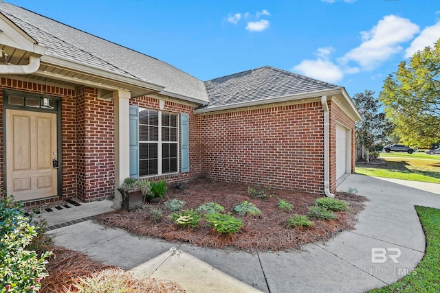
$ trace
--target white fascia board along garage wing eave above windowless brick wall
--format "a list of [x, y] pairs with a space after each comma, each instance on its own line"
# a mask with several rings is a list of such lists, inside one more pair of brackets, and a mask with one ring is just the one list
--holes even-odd
[[221, 111], [221, 110], [230, 110], [234, 108], [244, 108], [244, 107], [250, 107], [250, 106], [259, 106], [264, 104], [272, 104], [272, 103], [280, 103], [280, 102], [288, 102], [288, 101], [295, 101], [298, 99], [310, 99], [310, 98], [316, 98], [320, 97], [322, 95], [337, 95], [341, 93], [342, 88], [337, 89], [331, 89], [331, 90], [324, 90], [324, 91], [314, 91], [310, 93], [298, 93], [295, 95], [283, 95], [281, 97], [271, 97], [268, 99], [259, 99], [256, 101], [250, 101], [250, 102], [241, 102], [241, 103], [234, 103], [234, 104], [228, 104], [228, 105], [222, 105], [217, 107], [208, 107], [208, 108], [202, 108], [199, 110], [194, 110], [195, 113], [201, 114], [201, 113], [209, 113], [214, 111]]

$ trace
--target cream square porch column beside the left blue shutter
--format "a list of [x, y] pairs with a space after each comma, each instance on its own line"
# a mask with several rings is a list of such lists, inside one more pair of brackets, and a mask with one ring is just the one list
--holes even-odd
[[122, 196], [117, 188], [126, 177], [130, 176], [130, 93], [114, 91], [113, 99], [115, 102], [115, 198], [112, 207], [120, 209]]

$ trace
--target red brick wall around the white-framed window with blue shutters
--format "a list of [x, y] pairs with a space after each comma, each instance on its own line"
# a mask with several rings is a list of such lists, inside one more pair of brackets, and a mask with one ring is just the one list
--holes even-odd
[[[131, 105], [137, 105], [141, 108], [159, 110], [159, 99], [154, 97], [138, 97], [130, 100]], [[193, 113], [194, 106], [179, 104], [176, 102], [165, 101], [165, 112], [170, 113], [186, 113], [189, 115], [189, 152], [190, 152], [190, 172], [181, 174], [170, 174], [164, 176], [155, 176], [157, 179], [166, 178], [168, 183], [178, 182], [189, 178], [195, 178], [201, 175], [201, 135], [199, 115]], [[180, 150], [179, 150], [180, 152]], [[181, 157], [181, 156], [180, 156]], [[179, 164], [180, 166], [180, 164]]]

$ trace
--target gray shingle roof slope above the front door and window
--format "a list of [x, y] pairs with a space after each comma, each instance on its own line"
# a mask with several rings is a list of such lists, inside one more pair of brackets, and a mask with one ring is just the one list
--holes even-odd
[[47, 47], [47, 55], [165, 86], [164, 91], [208, 101], [201, 80], [166, 62], [0, 1], [0, 12]]

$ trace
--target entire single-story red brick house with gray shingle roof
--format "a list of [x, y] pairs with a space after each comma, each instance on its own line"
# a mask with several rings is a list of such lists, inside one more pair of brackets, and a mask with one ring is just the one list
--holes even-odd
[[261, 67], [202, 82], [0, 2], [0, 180], [30, 204], [197, 176], [332, 196], [353, 172], [342, 86]]

